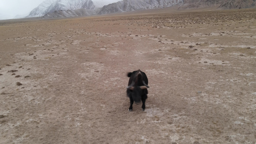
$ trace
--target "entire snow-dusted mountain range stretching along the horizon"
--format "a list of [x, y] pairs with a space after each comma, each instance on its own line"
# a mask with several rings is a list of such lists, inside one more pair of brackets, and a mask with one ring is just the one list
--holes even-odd
[[[117, 2], [104, 5], [102, 8], [99, 8], [99, 3], [103, 0], [73, 0], [76, 3], [68, 3], [68, 1], [69, 0], [46, 0], [44, 2], [48, 3], [39, 5], [33, 10], [35, 11], [34, 14], [31, 14], [33, 13], [31, 12], [28, 17], [41, 16], [42, 18], [61, 18], [89, 16], [164, 7], [175, 7], [178, 10], [207, 7], [217, 7], [217, 9], [220, 10], [256, 7], [256, 0], [105, 0], [105, 3], [111, 1]], [[49, 5], [49, 2], [52, 3]], [[94, 2], [98, 2], [98, 6], [96, 6]], [[68, 4], [68, 6], [65, 4]], [[77, 4], [77, 6], [75, 4]], [[81, 4], [83, 5], [81, 6]], [[46, 5], [47, 8], [43, 7], [44, 5]], [[39, 15], [37, 12], [43, 14]]]

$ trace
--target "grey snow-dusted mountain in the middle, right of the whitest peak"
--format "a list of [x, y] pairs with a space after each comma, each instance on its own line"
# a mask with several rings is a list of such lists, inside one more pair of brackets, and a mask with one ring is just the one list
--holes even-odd
[[129, 12], [182, 5], [184, 0], [122, 0], [104, 6], [98, 14]]

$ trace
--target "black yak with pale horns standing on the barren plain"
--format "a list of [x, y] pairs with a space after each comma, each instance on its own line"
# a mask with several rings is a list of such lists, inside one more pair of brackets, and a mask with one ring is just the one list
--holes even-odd
[[142, 110], [144, 111], [146, 106], [147, 88], [149, 88], [146, 74], [140, 70], [134, 72], [128, 72], [127, 74], [129, 83], [127, 86], [127, 96], [130, 98], [129, 111], [133, 110], [133, 104], [138, 104], [142, 101]]

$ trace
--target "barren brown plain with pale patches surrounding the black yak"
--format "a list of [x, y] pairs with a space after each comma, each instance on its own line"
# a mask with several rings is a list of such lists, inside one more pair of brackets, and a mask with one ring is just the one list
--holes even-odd
[[255, 144], [256, 10], [132, 14], [0, 21], [0, 144]]

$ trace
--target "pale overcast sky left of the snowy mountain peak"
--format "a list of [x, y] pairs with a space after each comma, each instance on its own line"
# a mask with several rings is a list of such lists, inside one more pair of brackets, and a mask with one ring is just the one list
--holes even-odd
[[27, 15], [44, 0], [0, 0], [0, 20]]

